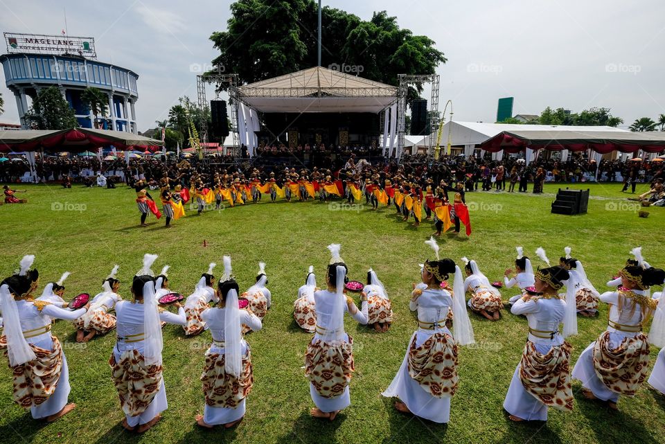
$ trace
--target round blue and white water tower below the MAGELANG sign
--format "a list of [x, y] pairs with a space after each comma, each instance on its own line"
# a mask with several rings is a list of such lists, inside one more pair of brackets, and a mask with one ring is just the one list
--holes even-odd
[[136, 81], [139, 76], [134, 71], [86, 57], [83, 51], [78, 54], [69, 51], [64, 54], [16, 52], [20, 48], [8, 46], [8, 50], [14, 51], [0, 55], [0, 63], [6, 85], [16, 98], [21, 127], [26, 127], [24, 116], [29, 108], [28, 97], [33, 99], [40, 89], [52, 86], [60, 89], [81, 127], [94, 127], [94, 116], [81, 102], [81, 94], [85, 88], [95, 87], [105, 92], [109, 100], [105, 118], [98, 116], [100, 127], [136, 134], [135, 106], [139, 100]]

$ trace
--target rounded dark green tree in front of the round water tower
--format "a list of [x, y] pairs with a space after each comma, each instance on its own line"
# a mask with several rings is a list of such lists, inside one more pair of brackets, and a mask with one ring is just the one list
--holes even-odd
[[57, 87], [39, 91], [25, 119], [32, 130], [68, 130], [79, 126], [74, 110]]

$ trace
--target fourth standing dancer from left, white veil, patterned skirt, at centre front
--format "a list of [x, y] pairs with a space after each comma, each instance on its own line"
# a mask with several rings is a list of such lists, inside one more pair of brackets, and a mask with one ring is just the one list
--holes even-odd
[[339, 256], [339, 244], [328, 245], [332, 254], [326, 273], [327, 290], [314, 293], [317, 306], [317, 332], [305, 353], [305, 375], [310, 380], [310, 396], [317, 407], [315, 418], [335, 419], [340, 410], [351, 405], [348, 384], [354, 371], [353, 338], [344, 332], [344, 313], [355, 321], [367, 323], [367, 300], [362, 296], [358, 310], [353, 299], [344, 294], [347, 267]]

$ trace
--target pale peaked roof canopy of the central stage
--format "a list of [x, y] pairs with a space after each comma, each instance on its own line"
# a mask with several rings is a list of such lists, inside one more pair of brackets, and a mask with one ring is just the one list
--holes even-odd
[[397, 87], [315, 66], [239, 87], [238, 98], [268, 113], [378, 113], [396, 100]]

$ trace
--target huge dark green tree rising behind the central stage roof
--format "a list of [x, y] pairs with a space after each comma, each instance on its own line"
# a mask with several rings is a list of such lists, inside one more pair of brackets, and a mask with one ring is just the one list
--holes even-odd
[[[317, 8], [314, 0], [236, 1], [227, 30], [210, 37], [221, 53], [213, 65], [238, 73], [241, 83], [316, 66]], [[321, 23], [321, 66], [348, 67], [345, 72], [398, 85], [398, 74], [433, 74], [446, 61], [432, 39], [399, 28], [385, 11], [363, 21], [325, 7]], [[421, 90], [417, 85], [409, 98]]]

